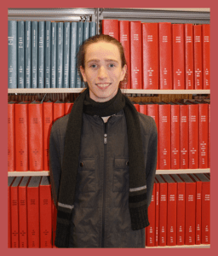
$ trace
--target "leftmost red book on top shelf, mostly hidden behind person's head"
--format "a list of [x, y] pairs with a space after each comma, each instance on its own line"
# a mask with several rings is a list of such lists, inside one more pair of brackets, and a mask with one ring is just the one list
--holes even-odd
[[109, 35], [119, 40], [119, 23], [118, 20], [102, 20], [102, 34]]

